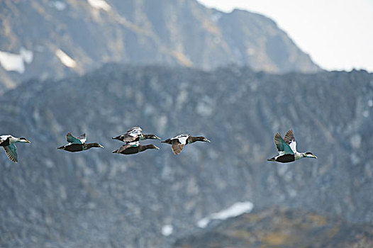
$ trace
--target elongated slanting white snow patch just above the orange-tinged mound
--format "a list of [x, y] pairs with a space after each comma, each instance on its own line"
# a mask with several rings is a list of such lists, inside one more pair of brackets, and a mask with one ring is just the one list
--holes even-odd
[[254, 204], [252, 204], [250, 201], [234, 203], [229, 208], [221, 210], [217, 213], [211, 213], [211, 215], [208, 215], [208, 217], [199, 220], [199, 222], [197, 222], [197, 226], [205, 228], [211, 220], [226, 220], [228, 218], [242, 215], [243, 213], [250, 213], [252, 208], [254, 208]]

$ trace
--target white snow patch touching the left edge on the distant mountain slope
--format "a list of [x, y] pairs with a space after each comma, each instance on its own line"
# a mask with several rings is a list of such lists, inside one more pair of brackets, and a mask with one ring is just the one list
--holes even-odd
[[21, 47], [19, 55], [11, 52], [0, 51], [0, 64], [6, 71], [14, 71], [22, 74], [25, 72], [25, 62], [33, 62], [33, 51]]

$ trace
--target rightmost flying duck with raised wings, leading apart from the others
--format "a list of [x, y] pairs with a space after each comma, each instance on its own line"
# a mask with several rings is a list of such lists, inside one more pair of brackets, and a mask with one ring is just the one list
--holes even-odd
[[274, 145], [276, 145], [279, 154], [272, 159], [267, 159], [268, 161], [275, 161], [280, 163], [294, 162], [298, 159], [303, 159], [304, 157], [311, 157], [317, 159], [315, 155], [311, 152], [297, 152], [296, 151], [296, 141], [293, 134], [293, 130], [286, 132], [284, 139], [279, 133], [274, 135]]

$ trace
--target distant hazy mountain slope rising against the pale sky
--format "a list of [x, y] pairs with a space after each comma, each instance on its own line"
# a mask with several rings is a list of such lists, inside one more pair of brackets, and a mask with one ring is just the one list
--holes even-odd
[[0, 94], [25, 79], [84, 74], [106, 62], [319, 70], [269, 18], [195, 0], [4, 0], [0, 19]]

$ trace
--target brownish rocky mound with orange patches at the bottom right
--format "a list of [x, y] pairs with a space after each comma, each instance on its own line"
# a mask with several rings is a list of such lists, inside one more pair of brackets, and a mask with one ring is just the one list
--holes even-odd
[[373, 226], [304, 210], [269, 208], [226, 220], [202, 234], [178, 240], [174, 247], [373, 247]]

